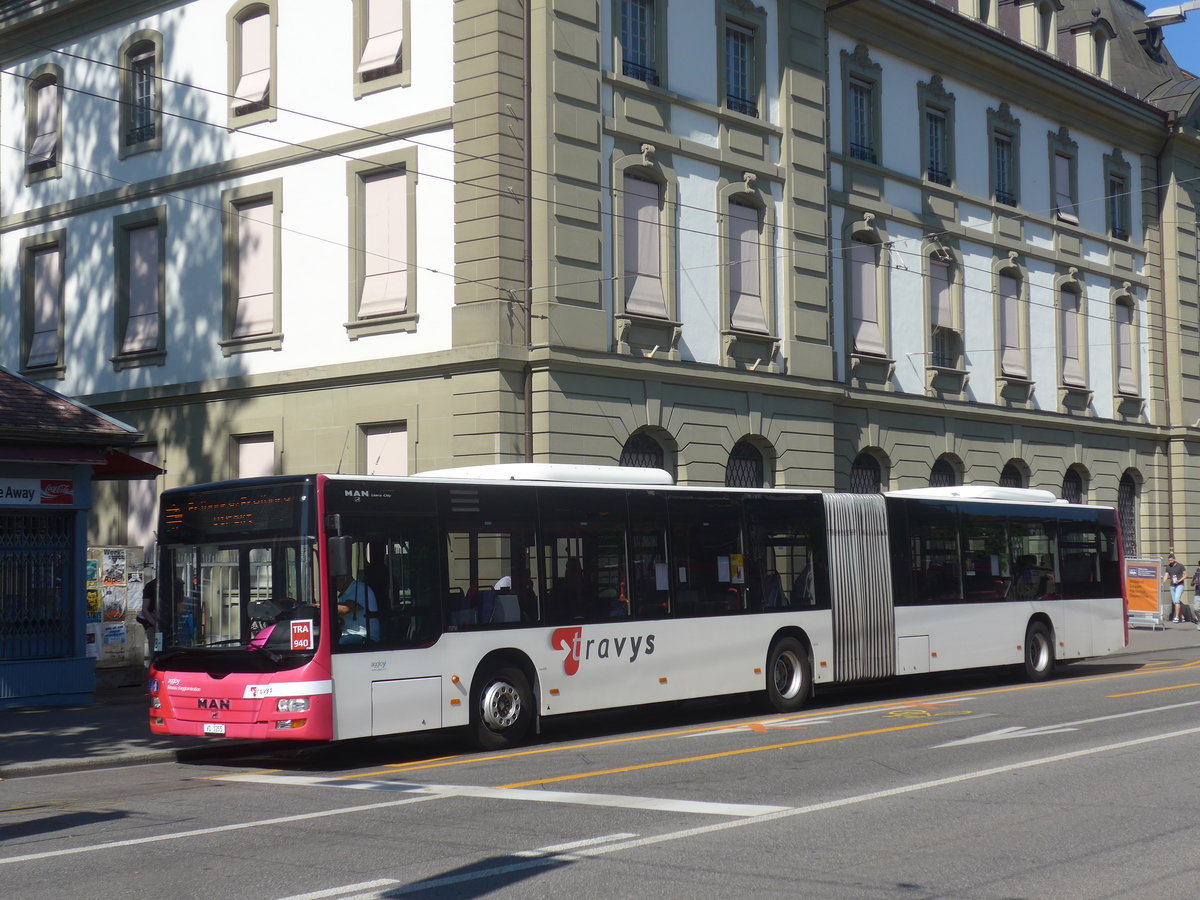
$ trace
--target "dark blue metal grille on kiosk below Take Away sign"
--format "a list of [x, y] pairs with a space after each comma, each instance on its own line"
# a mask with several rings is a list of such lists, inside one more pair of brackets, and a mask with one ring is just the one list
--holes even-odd
[[0, 512], [0, 659], [72, 653], [71, 512]]

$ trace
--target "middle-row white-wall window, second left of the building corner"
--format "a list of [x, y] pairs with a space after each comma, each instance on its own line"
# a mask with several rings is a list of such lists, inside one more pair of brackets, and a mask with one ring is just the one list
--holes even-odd
[[282, 182], [226, 191], [224, 325], [228, 356], [282, 347], [280, 208]]

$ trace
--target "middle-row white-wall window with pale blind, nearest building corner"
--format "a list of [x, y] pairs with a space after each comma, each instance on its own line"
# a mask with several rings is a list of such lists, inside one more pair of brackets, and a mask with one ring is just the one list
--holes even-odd
[[352, 340], [416, 328], [416, 200], [413, 151], [352, 163]]

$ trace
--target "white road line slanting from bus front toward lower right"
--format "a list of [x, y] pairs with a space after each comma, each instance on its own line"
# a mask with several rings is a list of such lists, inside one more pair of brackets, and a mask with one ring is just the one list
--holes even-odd
[[481, 787], [475, 785], [416, 785], [402, 781], [356, 781], [317, 778], [313, 775], [264, 775], [246, 773], [224, 775], [220, 781], [240, 781], [256, 785], [293, 785], [307, 787], [341, 787], [352, 791], [403, 791], [434, 797], [476, 797], [492, 800], [528, 800], [530, 803], [568, 803], [577, 806], [614, 806], [618, 809], [654, 810], [658, 812], [688, 812], [701, 816], [764, 816], [791, 806], [767, 806], [751, 803], [709, 803], [706, 800], [674, 800], [662, 797], [630, 797], [628, 794], [586, 793], [576, 791], [533, 791], [518, 787]]

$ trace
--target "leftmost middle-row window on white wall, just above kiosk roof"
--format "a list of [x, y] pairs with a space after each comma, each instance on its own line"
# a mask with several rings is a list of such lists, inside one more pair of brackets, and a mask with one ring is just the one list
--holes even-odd
[[26, 238], [20, 245], [23, 368], [37, 378], [61, 378], [64, 343], [65, 232]]

